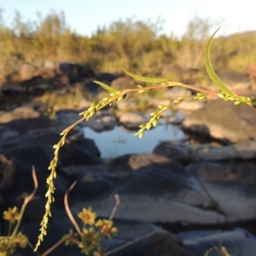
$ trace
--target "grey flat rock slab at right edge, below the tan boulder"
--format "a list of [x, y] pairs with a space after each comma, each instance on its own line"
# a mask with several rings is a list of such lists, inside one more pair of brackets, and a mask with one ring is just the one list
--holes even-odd
[[186, 170], [197, 177], [227, 223], [255, 218], [255, 166], [224, 166], [205, 162], [187, 166]]

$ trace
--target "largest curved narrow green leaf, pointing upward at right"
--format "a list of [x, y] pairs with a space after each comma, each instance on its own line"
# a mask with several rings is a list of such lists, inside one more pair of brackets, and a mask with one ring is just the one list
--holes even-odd
[[207, 44], [207, 49], [205, 52], [206, 69], [210, 79], [212, 79], [212, 82], [216, 84], [221, 91], [223, 91], [228, 96], [234, 96], [235, 94], [218, 78], [217, 74], [212, 69], [212, 65], [210, 61], [210, 47], [212, 44], [212, 38], [218, 32], [219, 28], [216, 30], [216, 32], [213, 33], [212, 37], [210, 38]]

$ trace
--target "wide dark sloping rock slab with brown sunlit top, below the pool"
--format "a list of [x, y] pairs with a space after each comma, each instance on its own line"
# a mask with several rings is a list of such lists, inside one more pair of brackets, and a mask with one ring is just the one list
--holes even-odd
[[[121, 204], [115, 216], [128, 220], [149, 222], [183, 222], [193, 224], [224, 223], [224, 215], [214, 210], [201, 183], [176, 162], [154, 154], [131, 155], [128, 162], [110, 168], [110, 173], [92, 174], [87, 182], [80, 177], [78, 193], [73, 196], [73, 211], [93, 207], [107, 218], [118, 194]], [[93, 186], [93, 183], [95, 185]], [[91, 191], [102, 186], [102, 194], [88, 200]], [[95, 187], [95, 188], [94, 188]], [[86, 190], [84, 190], [84, 189]], [[74, 190], [75, 191], [75, 190]], [[73, 191], [71, 191], [73, 195]]]

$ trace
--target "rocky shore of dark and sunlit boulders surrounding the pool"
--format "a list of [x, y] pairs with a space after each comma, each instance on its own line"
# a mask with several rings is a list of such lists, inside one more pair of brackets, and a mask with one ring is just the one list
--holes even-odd
[[[27, 64], [20, 67], [20, 78], [25, 79], [21, 84], [2, 87], [0, 212], [15, 205], [20, 207], [24, 197], [32, 192], [31, 170], [35, 166], [38, 190], [26, 207], [21, 224], [22, 232], [32, 244], [37, 240], [44, 214], [45, 180], [54, 153], [52, 146], [59, 141], [60, 132], [78, 120], [79, 113], [90, 102], [79, 102], [79, 109], [59, 109], [53, 121], [45, 114], [46, 107], [32, 102], [30, 94], [44, 94], [49, 90], [54, 93], [78, 82], [96, 94], [98, 87], [91, 83], [92, 79], [101, 79], [113, 87], [136, 86], [127, 78], [110, 74], [96, 77], [94, 71], [83, 66], [66, 64], [56, 66], [49, 61], [34, 69]], [[79, 75], [73, 73], [75, 67]], [[149, 98], [147, 103], [152, 108], [160, 103], [168, 104], [173, 97], [192, 93], [171, 89], [165, 92], [165, 99]], [[247, 93], [253, 95], [254, 91]], [[221, 100], [185, 102], [177, 110], [166, 113], [163, 119], [183, 129], [187, 139], [160, 142], [150, 148], [151, 154], [125, 154], [106, 161], [94, 139], [84, 137], [84, 127], [101, 132], [123, 125], [133, 130], [147, 122], [148, 115], [137, 109], [134, 99], [99, 111], [67, 136], [57, 166], [53, 217], [40, 252], [73, 228], [63, 197], [77, 181], [69, 194], [74, 215], [83, 207], [92, 207], [100, 218], [109, 218], [115, 204], [114, 195], [119, 195], [120, 205], [113, 218], [119, 233], [103, 246], [111, 250], [134, 242], [113, 255], [197, 256], [219, 246], [219, 242], [230, 255], [254, 255], [256, 110]], [[196, 142], [192, 139], [195, 135]], [[6, 232], [3, 221], [0, 226], [1, 232]], [[33, 255], [30, 249], [17, 251], [15, 255], [24, 253]], [[53, 255], [80, 253], [77, 248], [61, 246]]]

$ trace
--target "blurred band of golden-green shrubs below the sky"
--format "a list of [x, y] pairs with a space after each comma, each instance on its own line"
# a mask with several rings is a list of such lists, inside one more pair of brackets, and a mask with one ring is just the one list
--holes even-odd
[[[178, 22], [178, 20], [177, 20]], [[163, 21], [117, 20], [98, 27], [91, 37], [73, 32], [63, 13], [49, 13], [24, 22], [19, 12], [7, 26], [0, 13], [0, 66], [38, 60], [75, 61], [99, 73], [119, 73], [119, 65], [131, 72], [164, 76], [189, 83], [207, 83], [204, 50], [221, 21], [195, 16], [182, 37], [161, 32]], [[212, 44], [212, 65], [217, 72], [243, 72], [256, 63], [256, 32], [216, 37]], [[3, 68], [0, 67], [1, 70]], [[4, 77], [4, 74], [2, 74]]]

